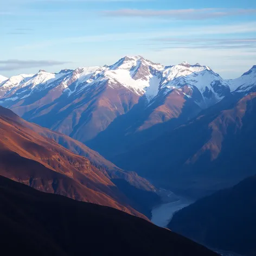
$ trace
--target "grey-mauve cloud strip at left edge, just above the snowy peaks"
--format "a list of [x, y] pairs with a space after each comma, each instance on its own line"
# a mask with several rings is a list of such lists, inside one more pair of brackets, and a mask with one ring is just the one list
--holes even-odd
[[0, 71], [14, 71], [23, 68], [50, 67], [70, 63], [53, 60], [0, 60]]

